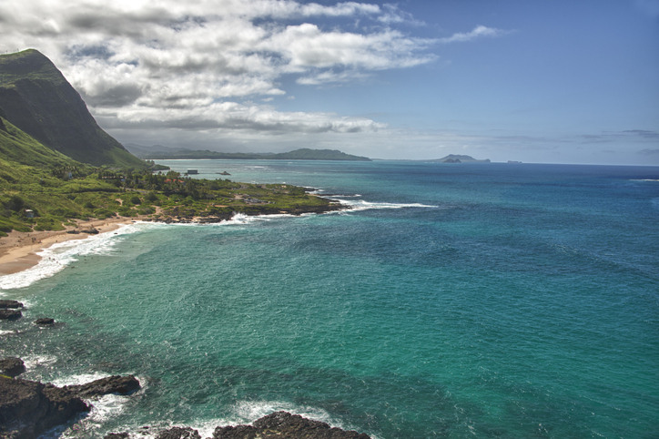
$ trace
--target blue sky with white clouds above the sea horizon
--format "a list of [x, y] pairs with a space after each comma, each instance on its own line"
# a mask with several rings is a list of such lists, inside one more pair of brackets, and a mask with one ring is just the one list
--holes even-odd
[[121, 143], [659, 165], [659, 0], [0, 0]]

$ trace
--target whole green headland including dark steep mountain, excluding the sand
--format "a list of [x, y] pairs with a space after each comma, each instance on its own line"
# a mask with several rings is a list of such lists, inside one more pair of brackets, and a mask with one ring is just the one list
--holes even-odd
[[294, 186], [164, 174], [167, 167], [136, 158], [99, 128], [76, 90], [35, 50], [0, 56], [0, 106], [0, 236], [117, 215], [212, 222], [233, 212], [338, 209]]

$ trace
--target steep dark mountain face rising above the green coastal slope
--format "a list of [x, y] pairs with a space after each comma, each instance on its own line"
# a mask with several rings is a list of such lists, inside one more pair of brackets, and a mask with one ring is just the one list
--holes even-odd
[[144, 162], [98, 127], [85, 102], [36, 50], [0, 56], [0, 113], [48, 148], [92, 165], [142, 168]]

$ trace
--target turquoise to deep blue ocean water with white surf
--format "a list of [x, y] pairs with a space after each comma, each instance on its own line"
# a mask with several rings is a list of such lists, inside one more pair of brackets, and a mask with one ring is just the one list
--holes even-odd
[[659, 436], [659, 168], [163, 163], [355, 209], [134, 224], [0, 278], [27, 378], [145, 384], [55, 434], [285, 409], [380, 439]]

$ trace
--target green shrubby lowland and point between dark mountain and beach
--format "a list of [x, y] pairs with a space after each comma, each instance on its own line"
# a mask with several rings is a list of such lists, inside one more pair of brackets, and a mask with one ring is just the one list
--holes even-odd
[[174, 171], [93, 167], [46, 148], [0, 117], [0, 236], [63, 230], [72, 220], [145, 216], [152, 220], [336, 209], [285, 184], [191, 179]]

